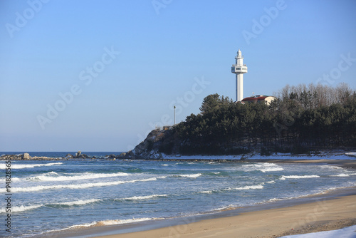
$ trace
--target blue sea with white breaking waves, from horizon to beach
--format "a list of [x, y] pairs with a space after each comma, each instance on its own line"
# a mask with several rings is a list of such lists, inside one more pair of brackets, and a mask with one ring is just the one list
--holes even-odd
[[0, 237], [56, 237], [90, 227], [214, 214], [356, 185], [355, 170], [327, 164], [108, 160], [106, 155], [120, 152], [83, 153], [98, 158], [11, 161], [9, 190], [6, 162], [0, 161]]

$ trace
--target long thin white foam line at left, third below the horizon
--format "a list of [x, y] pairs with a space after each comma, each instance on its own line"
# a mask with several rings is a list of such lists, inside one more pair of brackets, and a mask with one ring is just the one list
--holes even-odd
[[[88, 187], [105, 187], [105, 186], [112, 186], [112, 185], [121, 185], [124, 183], [131, 183], [131, 182], [149, 182], [155, 181], [157, 179], [165, 178], [162, 177], [151, 177], [142, 180], [128, 180], [128, 181], [114, 181], [114, 182], [90, 182], [90, 183], [82, 183], [79, 185], [38, 185], [34, 187], [14, 187], [11, 189], [12, 192], [37, 192], [41, 190], [53, 190], [53, 189], [85, 189]], [[4, 191], [4, 190], [2, 190]]]

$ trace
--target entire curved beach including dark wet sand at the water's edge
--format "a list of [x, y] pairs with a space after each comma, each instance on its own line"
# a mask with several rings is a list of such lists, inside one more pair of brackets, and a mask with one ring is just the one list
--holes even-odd
[[[241, 162], [312, 163], [356, 168], [356, 160], [242, 160]], [[136, 224], [91, 227], [58, 237], [281, 237], [340, 229], [356, 224], [356, 187], [268, 202], [192, 217]], [[72, 233], [73, 232], [73, 233]], [[63, 236], [62, 236], [63, 235]]]

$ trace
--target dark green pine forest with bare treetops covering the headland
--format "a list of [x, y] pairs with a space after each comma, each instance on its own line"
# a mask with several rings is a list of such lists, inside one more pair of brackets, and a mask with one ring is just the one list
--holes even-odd
[[275, 94], [277, 99], [270, 105], [207, 95], [200, 113], [187, 116], [158, 137], [149, 135], [145, 150], [168, 155], [256, 151], [269, 155], [356, 147], [356, 92], [347, 84], [287, 85]]

